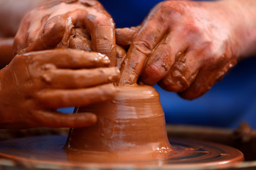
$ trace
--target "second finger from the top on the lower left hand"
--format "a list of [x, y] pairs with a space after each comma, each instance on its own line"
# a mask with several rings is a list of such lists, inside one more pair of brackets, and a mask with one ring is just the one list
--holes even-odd
[[117, 67], [98, 69], [53, 69], [42, 75], [51, 88], [74, 89], [108, 84], [119, 79]]

